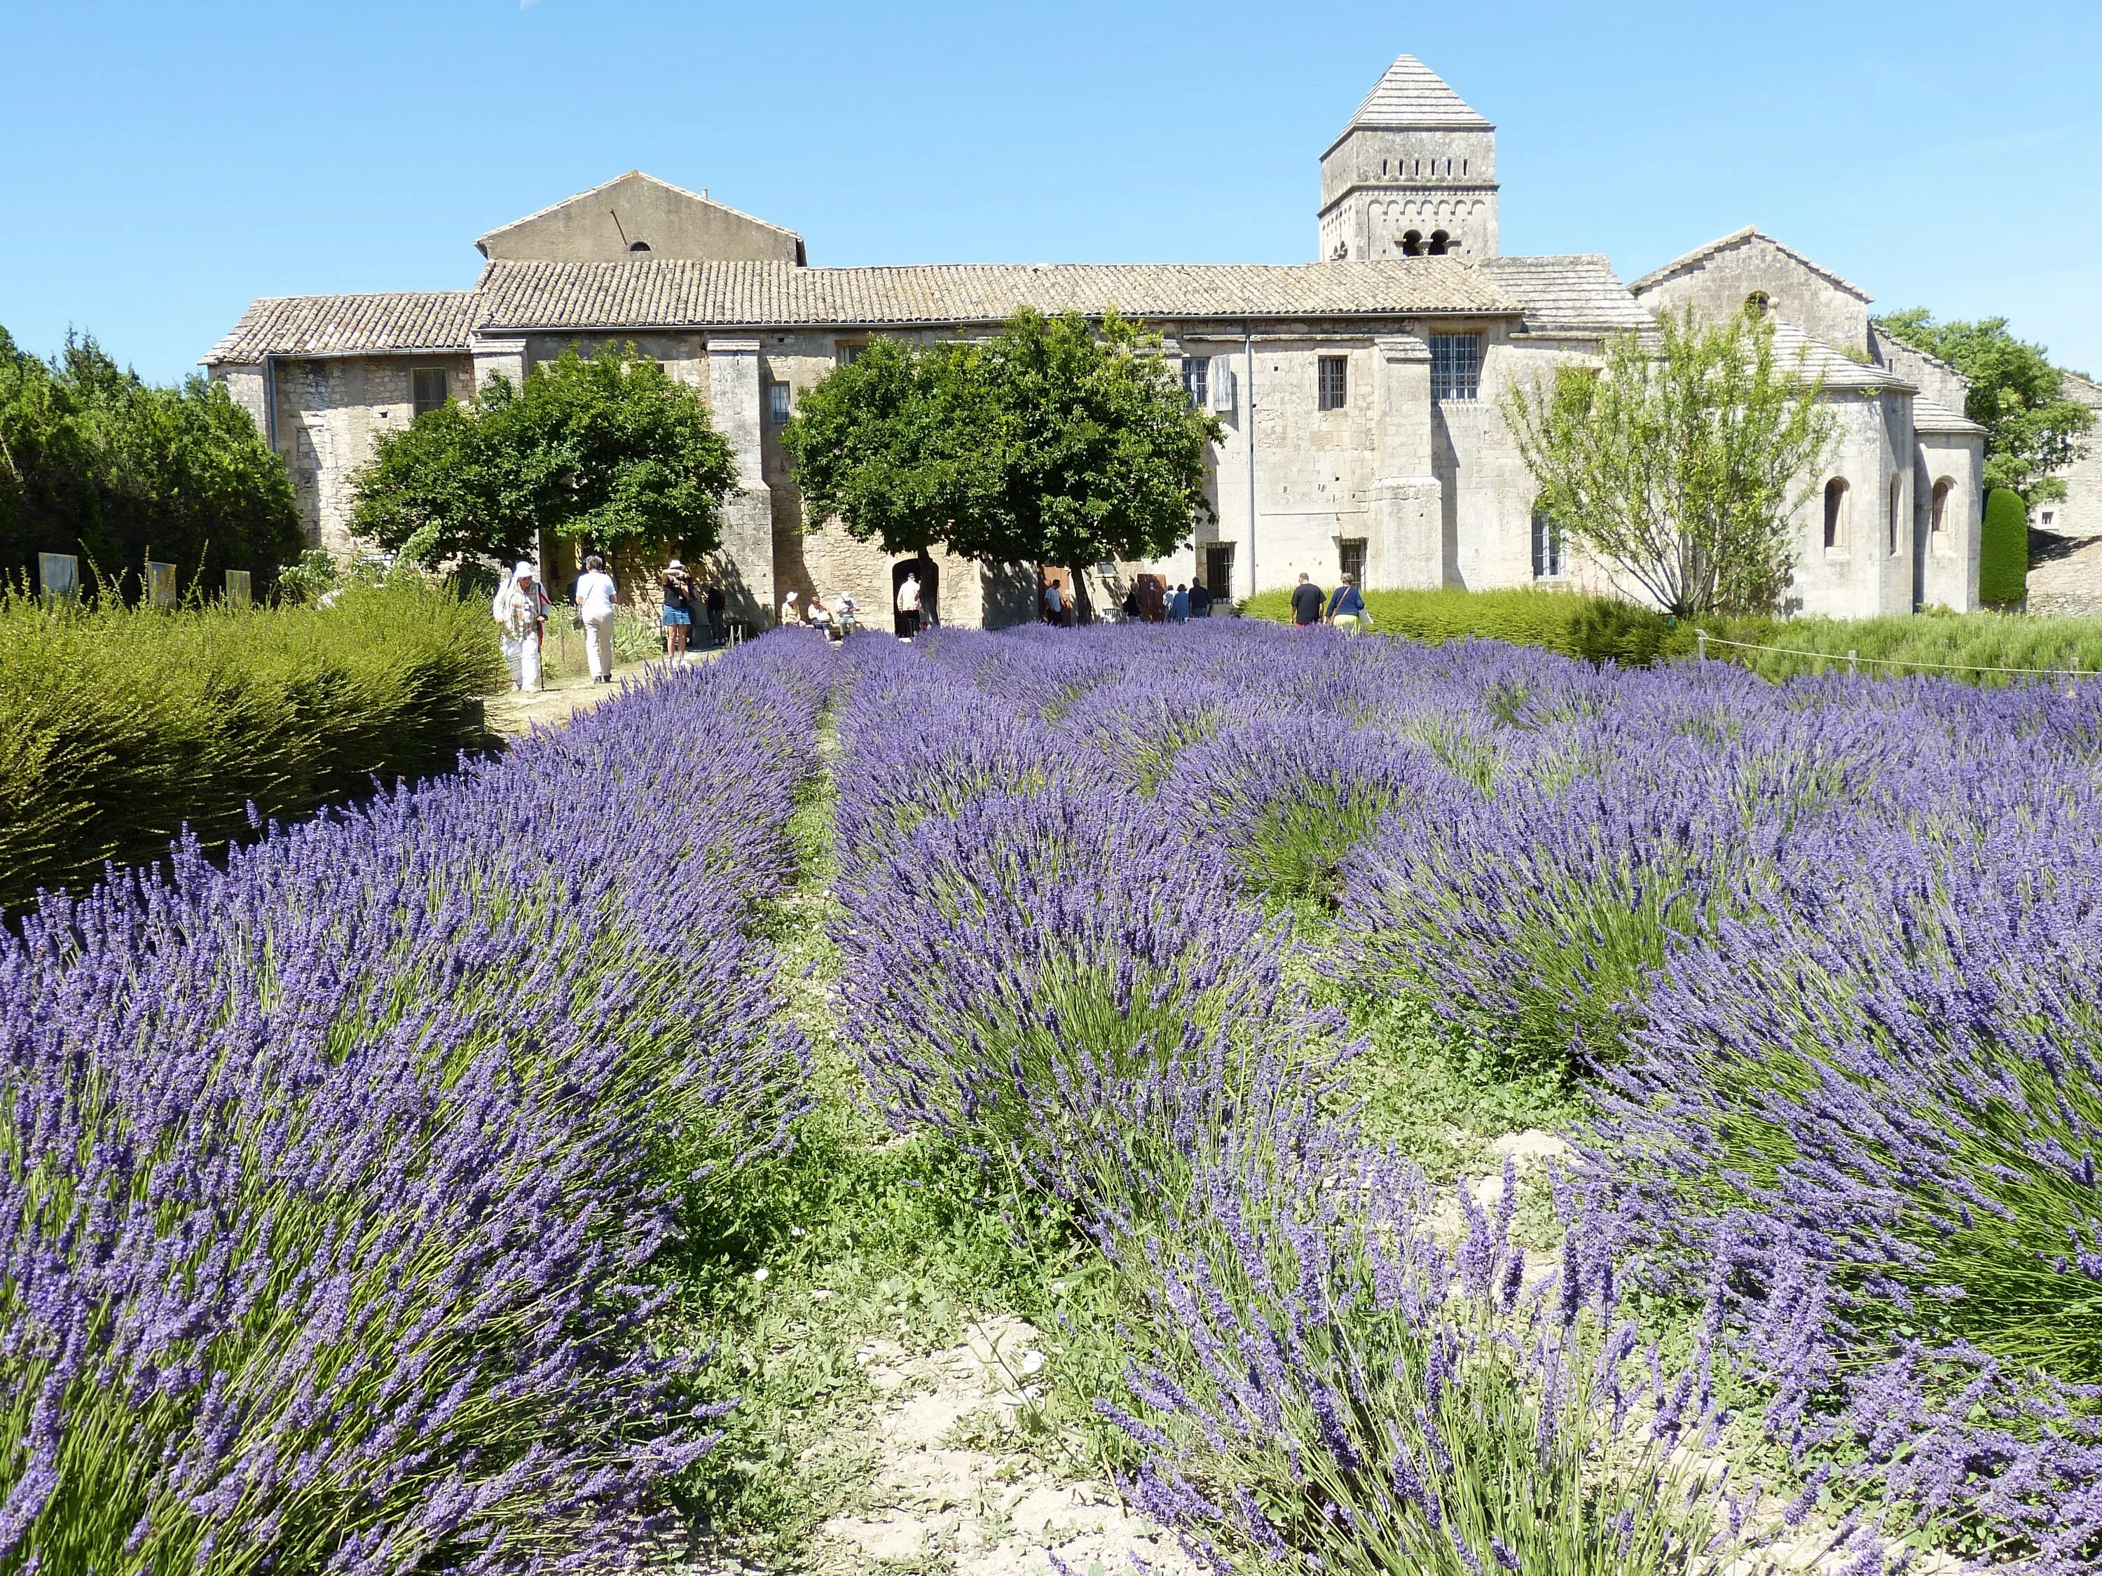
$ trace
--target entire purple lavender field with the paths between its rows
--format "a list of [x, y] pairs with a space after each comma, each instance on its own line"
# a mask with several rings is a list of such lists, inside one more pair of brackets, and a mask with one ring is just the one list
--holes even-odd
[[[0, 954], [0, 1572], [2102, 1568], [2098, 767], [2096, 689], [780, 635], [179, 851]], [[912, 1458], [1143, 1553], [900, 1490], [988, 1328]]]

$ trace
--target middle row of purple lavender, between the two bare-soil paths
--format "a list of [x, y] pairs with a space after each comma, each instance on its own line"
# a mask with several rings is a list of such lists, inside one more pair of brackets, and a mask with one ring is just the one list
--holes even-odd
[[1057, 1191], [1120, 1267], [1133, 1366], [1104, 1406], [1148, 1511], [1217, 1570], [1745, 1557], [1747, 1498], [1675, 1454], [1732, 1423], [1713, 1341], [1684, 1370], [1644, 1353], [1595, 1231], [1524, 1284], [1516, 1177], [1497, 1217], [1463, 1194], [1448, 1246], [1242, 891], [1278, 851], [1286, 885], [1331, 880], [1312, 845], [1343, 807], [1366, 830], [1450, 794], [1480, 740], [1358, 748], [1381, 677], [1289, 637], [944, 635], [843, 664], [849, 1044], [900, 1131]]

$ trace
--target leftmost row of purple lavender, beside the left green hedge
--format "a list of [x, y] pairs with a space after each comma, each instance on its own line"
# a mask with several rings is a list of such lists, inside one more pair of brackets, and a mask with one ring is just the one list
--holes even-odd
[[633, 1557], [710, 1444], [656, 1265], [784, 1143], [763, 643], [0, 939], [0, 1570]]

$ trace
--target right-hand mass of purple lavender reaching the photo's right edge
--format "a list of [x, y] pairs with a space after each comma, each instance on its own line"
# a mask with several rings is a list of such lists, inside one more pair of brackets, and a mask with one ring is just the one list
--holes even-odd
[[1162, 801], [1349, 990], [1598, 1080], [1587, 1208], [1799, 1332], [1747, 1341], [1808, 1481], [2102, 1559], [2096, 691], [1268, 645]]

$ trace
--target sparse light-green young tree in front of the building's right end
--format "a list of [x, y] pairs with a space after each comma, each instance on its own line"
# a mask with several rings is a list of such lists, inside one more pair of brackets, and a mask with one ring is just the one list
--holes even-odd
[[1513, 385], [1503, 412], [1568, 542], [1682, 618], [1780, 605], [1793, 515], [1833, 437], [1822, 385], [1782, 366], [1774, 326], [1738, 315], [1623, 334], [1604, 366]]

